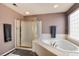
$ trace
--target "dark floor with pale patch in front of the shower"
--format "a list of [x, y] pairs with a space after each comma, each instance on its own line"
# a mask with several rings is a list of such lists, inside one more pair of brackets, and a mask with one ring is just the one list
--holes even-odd
[[30, 50], [15, 49], [12, 53], [6, 56], [37, 56], [37, 54]]

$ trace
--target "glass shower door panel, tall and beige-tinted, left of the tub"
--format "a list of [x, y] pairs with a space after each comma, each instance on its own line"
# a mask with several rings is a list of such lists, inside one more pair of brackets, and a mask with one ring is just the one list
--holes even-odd
[[21, 46], [32, 47], [33, 35], [33, 22], [22, 21], [21, 22]]

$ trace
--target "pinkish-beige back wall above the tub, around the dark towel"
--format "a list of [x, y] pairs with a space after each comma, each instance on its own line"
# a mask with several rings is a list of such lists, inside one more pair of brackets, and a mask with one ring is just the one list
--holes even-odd
[[[36, 18], [35, 18], [36, 17]], [[65, 15], [64, 14], [44, 14], [36, 16], [25, 16], [25, 20], [39, 19], [42, 21], [42, 33], [50, 33], [50, 26], [57, 26], [57, 34], [65, 33]]]

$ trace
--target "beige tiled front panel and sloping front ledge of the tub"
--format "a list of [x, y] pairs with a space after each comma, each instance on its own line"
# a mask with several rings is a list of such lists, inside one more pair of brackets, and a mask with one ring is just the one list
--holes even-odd
[[39, 56], [62, 56], [63, 54], [56, 49], [52, 49], [48, 45], [38, 41], [33, 41], [32, 51], [37, 53]]

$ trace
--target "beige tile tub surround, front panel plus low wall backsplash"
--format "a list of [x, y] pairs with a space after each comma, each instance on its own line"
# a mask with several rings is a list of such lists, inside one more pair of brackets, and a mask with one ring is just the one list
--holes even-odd
[[[57, 34], [56, 39], [62, 39], [62, 38], [64, 39], [65, 36], [66, 36], [65, 34]], [[48, 45], [45, 45], [44, 43], [38, 41], [38, 40], [42, 40], [42, 39], [50, 40], [51, 36], [50, 36], [50, 34], [47, 34], [47, 33], [41, 34], [41, 37], [39, 39], [34, 40], [33, 44], [32, 44], [33, 52], [36, 52], [39, 56], [56, 56], [56, 55], [62, 56], [63, 55], [61, 52], [57, 51], [56, 49], [52, 49]]]

